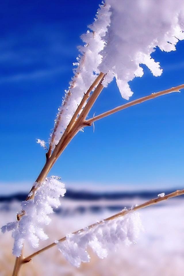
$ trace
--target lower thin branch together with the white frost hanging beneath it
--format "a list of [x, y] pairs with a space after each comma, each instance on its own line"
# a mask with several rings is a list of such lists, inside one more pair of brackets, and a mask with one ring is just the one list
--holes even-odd
[[[38, 254], [44, 252], [45, 250], [48, 250], [49, 248], [52, 248], [53, 246], [58, 245], [59, 250], [64, 254], [64, 256], [72, 264], [78, 266], [80, 265], [81, 261], [84, 262], [84, 255], [86, 257], [85, 261], [89, 261], [89, 258], [87, 257], [87, 253], [85, 252], [85, 249], [87, 244], [91, 246], [91, 243], [90, 243], [91, 240], [93, 241], [91, 247], [95, 250], [97, 255], [104, 254], [103, 256], [102, 255], [100, 256], [105, 257], [105, 254], [107, 254], [108, 252], [106, 248], [111, 249], [113, 247], [111, 239], [114, 240], [115, 248], [116, 248], [117, 242], [120, 242], [120, 239], [126, 244], [135, 242], [136, 238], [138, 237], [139, 231], [142, 229], [141, 222], [139, 220], [139, 214], [136, 213], [134, 214], [135, 216], [132, 216], [132, 214], [135, 211], [146, 208], [148, 206], [152, 206], [161, 201], [174, 198], [176, 196], [181, 196], [183, 194], [184, 194], [184, 189], [177, 190], [168, 195], [165, 195], [164, 193], [159, 194], [157, 198], [144, 202], [143, 204], [137, 205], [128, 210], [124, 209], [121, 212], [104, 219], [103, 221], [98, 221], [97, 223], [94, 223], [88, 227], [75, 231], [74, 233], [70, 233], [66, 237], [63, 237], [58, 241], [24, 258], [22, 262], [23, 263], [29, 262], [34, 256], [37, 256]], [[91, 229], [94, 229], [94, 230], [91, 230]], [[104, 236], [102, 237], [102, 235]], [[71, 244], [69, 243], [69, 241], [71, 241]], [[61, 243], [63, 242], [64, 242], [64, 245], [61, 245]], [[81, 251], [82, 248], [83, 248], [83, 251]], [[82, 254], [82, 252], [83, 252], [83, 255], [80, 255]]]

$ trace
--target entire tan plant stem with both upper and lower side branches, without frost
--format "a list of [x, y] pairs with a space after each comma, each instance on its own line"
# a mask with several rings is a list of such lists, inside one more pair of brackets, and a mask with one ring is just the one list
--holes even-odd
[[[74, 116], [72, 117], [70, 123], [68, 124], [68, 127], [66, 128], [66, 131], [64, 132], [63, 136], [61, 137], [59, 143], [55, 146], [55, 148], [54, 148], [51, 156], [48, 156], [48, 158], [46, 160], [46, 163], [45, 163], [45, 165], [44, 165], [41, 173], [39, 174], [36, 182], [39, 183], [39, 182], [42, 182], [45, 179], [45, 177], [47, 176], [47, 174], [51, 170], [51, 168], [54, 165], [54, 163], [56, 162], [56, 160], [62, 154], [62, 152], [64, 151], [64, 149], [66, 148], [66, 146], [70, 143], [70, 141], [78, 133], [78, 131], [80, 131], [83, 127], [89, 126], [93, 122], [95, 122], [96, 120], [99, 120], [101, 118], [104, 118], [106, 116], [114, 114], [115, 112], [118, 112], [118, 111], [123, 110], [125, 108], [128, 108], [130, 106], [133, 106], [133, 105], [136, 105], [136, 104], [140, 104], [140, 103], [142, 103], [144, 101], [147, 101], [147, 100], [150, 100], [150, 99], [154, 99], [154, 98], [156, 98], [158, 96], [165, 95], [165, 94], [168, 94], [168, 93], [171, 93], [171, 92], [176, 92], [176, 91], [179, 91], [179, 89], [183, 89], [184, 88], [184, 84], [183, 84], [183, 85], [179, 85], [177, 87], [173, 87], [173, 88], [170, 88], [170, 89], [167, 89], [167, 90], [164, 90], [164, 91], [153, 93], [153, 94], [151, 94], [149, 96], [142, 97], [140, 99], [137, 99], [135, 101], [129, 102], [129, 103], [127, 103], [125, 105], [122, 105], [122, 106], [118, 106], [118, 107], [116, 107], [116, 108], [114, 108], [112, 110], [104, 112], [103, 114], [100, 114], [100, 115], [95, 116], [95, 117], [93, 117], [93, 118], [91, 118], [89, 120], [86, 120], [86, 117], [89, 114], [89, 112], [90, 112], [93, 104], [95, 103], [97, 97], [99, 96], [99, 94], [101, 93], [102, 89], [104, 88], [104, 86], [101, 84], [104, 76], [105, 76], [105, 74], [100, 73], [99, 76], [94, 81], [94, 83], [88, 89], [87, 93], [84, 95], [84, 98], [81, 101], [81, 104], [78, 106], [76, 112], [74, 113]], [[97, 85], [97, 83], [98, 83], [98, 85]], [[93, 92], [93, 94], [89, 98], [90, 92], [92, 91], [92, 89], [96, 85], [97, 85], [97, 87], [96, 87], [95, 91]], [[88, 98], [89, 98], [89, 100], [87, 101]], [[87, 101], [87, 104], [83, 108], [83, 106], [85, 104], [85, 101]], [[83, 110], [82, 110], [82, 108], [83, 108]], [[81, 110], [82, 110], [82, 112], [81, 112]], [[79, 114], [79, 116], [78, 116], [78, 114]], [[77, 118], [77, 116], [78, 116], [78, 118]], [[26, 198], [26, 200], [34, 198], [34, 193], [36, 191], [36, 188], [33, 186], [32, 189], [31, 189], [31, 191], [32, 191], [32, 194], [30, 196], [28, 196]], [[125, 214], [127, 214], [128, 212], [130, 212], [132, 210], [138, 210], [138, 209], [141, 209], [141, 208], [153, 205], [153, 204], [155, 204], [157, 202], [160, 202], [162, 200], [166, 200], [167, 198], [171, 198], [171, 197], [174, 197], [174, 196], [179, 196], [180, 194], [183, 194], [183, 193], [184, 193], [184, 190], [176, 191], [176, 192], [171, 193], [170, 195], [165, 196], [163, 198], [157, 198], [157, 199], [154, 199], [154, 200], [150, 200], [149, 202], [146, 202], [145, 204], [141, 204], [139, 206], [136, 206], [133, 209], [120, 212], [120, 213], [118, 213], [118, 214], [116, 214], [116, 215], [114, 215], [114, 216], [112, 216], [110, 218], [107, 218], [106, 221], [108, 221], [110, 219], [113, 219], [113, 218], [116, 218], [118, 216], [125, 215]], [[22, 212], [22, 215], [24, 215], [24, 212]], [[22, 215], [20, 215], [20, 217]], [[19, 219], [20, 219], [20, 217], [19, 217]], [[89, 228], [94, 227], [95, 225], [96, 224], [90, 225]], [[81, 229], [80, 231], [82, 232], [83, 229]], [[78, 232], [78, 231], [76, 231], [76, 232]], [[76, 233], [76, 232], [74, 232], [74, 233]], [[66, 239], [66, 237], [60, 239], [59, 241], [63, 241], [65, 239]], [[16, 262], [15, 262], [14, 271], [13, 271], [12, 276], [17, 276], [18, 275], [18, 272], [20, 271], [20, 267], [21, 267], [22, 263], [28, 262], [30, 260], [30, 258], [38, 255], [39, 253], [45, 251], [46, 249], [49, 249], [49, 248], [53, 247], [54, 245], [55, 245], [55, 243], [53, 243], [53, 244], [51, 244], [51, 245], [49, 245], [49, 246], [47, 246], [47, 247], [45, 247], [45, 248], [43, 248], [43, 249], [35, 252], [34, 254], [28, 256], [27, 258], [23, 258], [22, 256], [20, 256], [19, 258], [16, 258]]]

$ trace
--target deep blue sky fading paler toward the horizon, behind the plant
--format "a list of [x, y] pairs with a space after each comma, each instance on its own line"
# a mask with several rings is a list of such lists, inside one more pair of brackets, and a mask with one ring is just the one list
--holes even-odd
[[[37, 178], [64, 89], [72, 77], [80, 35], [99, 2], [5, 1], [1, 4], [0, 182], [24, 185]], [[184, 41], [177, 51], [152, 54], [163, 68], [131, 83], [130, 100], [184, 83]], [[122, 65], [123, 66], [123, 65]], [[127, 102], [115, 83], [104, 89], [91, 115]], [[183, 185], [184, 91], [131, 107], [79, 133], [51, 171], [68, 185], [155, 187]], [[29, 184], [30, 185], [30, 184]]]

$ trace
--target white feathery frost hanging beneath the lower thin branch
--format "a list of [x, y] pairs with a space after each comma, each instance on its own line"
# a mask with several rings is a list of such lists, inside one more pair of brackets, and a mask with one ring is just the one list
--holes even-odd
[[108, 256], [108, 252], [116, 251], [122, 243], [136, 243], [140, 230], [142, 225], [139, 213], [132, 212], [110, 221], [101, 221], [94, 227], [67, 235], [65, 241], [55, 242], [65, 258], [72, 265], [79, 267], [81, 262], [90, 261], [88, 247], [103, 259]]

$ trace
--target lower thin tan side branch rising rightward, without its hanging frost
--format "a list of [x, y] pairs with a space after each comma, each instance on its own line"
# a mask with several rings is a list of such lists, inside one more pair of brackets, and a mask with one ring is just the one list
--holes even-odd
[[[131, 209], [128, 209], [128, 210], [122, 210], [121, 212], [119, 212], [119, 213], [117, 213], [117, 214], [115, 214], [115, 215], [113, 215], [113, 216], [110, 216], [110, 217], [104, 219], [104, 221], [111, 221], [111, 220], [113, 220], [113, 219], [115, 219], [115, 218], [124, 216], [124, 215], [126, 215], [126, 214], [128, 214], [128, 213], [130, 213], [130, 212], [137, 211], [137, 210], [139, 210], [139, 209], [143, 209], [143, 208], [145, 208], [145, 207], [148, 207], [148, 206], [157, 204], [157, 203], [159, 203], [159, 202], [161, 202], [161, 201], [164, 201], [164, 200], [167, 200], [167, 199], [169, 199], [169, 198], [174, 198], [174, 197], [176, 197], [176, 196], [181, 196], [181, 195], [183, 195], [183, 194], [184, 194], [184, 189], [182, 189], [182, 190], [177, 190], [177, 191], [175, 191], [175, 192], [173, 192], [173, 193], [170, 193], [170, 194], [168, 194], [168, 195], [166, 195], [166, 196], [164, 196], [164, 197], [158, 197], [158, 198], [151, 199], [151, 200], [149, 200], [149, 201], [147, 201], [147, 202], [144, 202], [144, 203], [142, 203], [142, 204], [140, 204], [140, 205], [135, 206], [134, 208], [131, 208]], [[91, 228], [93, 228], [93, 227], [95, 227], [95, 226], [97, 226], [97, 225], [99, 225], [99, 224], [102, 224], [102, 221], [100, 221], [99, 223], [93, 223], [93, 224], [89, 225], [88, 229], [91, 229]], [[73, 232], [72, 234], [77, 234], [79, 231], [80, 231], [80, 233], [82, 233], [82, 232], [84, 232], [84, 231], [86, 231], [86, 230], [85, 230], [85, 229], [80, 229], [80, 230], [77, 230], [77, 231]], [[61, 239], [59, 239], [58, 241], [59, 241], [59, 242], [62, 242], [62, 241], [64, 241], [64, 240], [66, 240], [66, 236], [63, 237], [63, 238], [61, 238]], [[45, 250], [47, 250], [47, 249], [49, 249], [49, 248], [51, 248], [51, 247], [53, 247], [53, 246], [55, 246], [55, 245], [57, 245], [57, 244], [54, 242], [54, 243], [49, 244], [48, 246], [46, 246], [46, 247], [44, 247], [44, 248], [38, 250], [37, 252], [34, 252], [34, 253], [31, 254], [30, 256], [24, 258], [24, 259], [23, 259], [23, 263], [24, 263], [24, 262], [25, 262], [25, 263], [26, 263], [26, 262], [29, 262], [33, 257], [39, 255], [40, 253], [44, 252]]]

